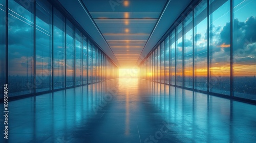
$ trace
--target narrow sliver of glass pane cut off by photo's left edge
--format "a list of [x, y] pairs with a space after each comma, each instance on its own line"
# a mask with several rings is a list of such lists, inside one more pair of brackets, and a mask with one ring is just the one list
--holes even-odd
[[[0, 1], [0, 17], [5, 17], [6, 14], [6, 7], [5, 7], [5, 1], [1, 0]], [[7, 84], [5, 81], [6, 79], [6, 26], [5, 26], [5, 20], [1, 20], [0, 23], [0, 99], [3, 98], [4, 94], [4, 84]]]

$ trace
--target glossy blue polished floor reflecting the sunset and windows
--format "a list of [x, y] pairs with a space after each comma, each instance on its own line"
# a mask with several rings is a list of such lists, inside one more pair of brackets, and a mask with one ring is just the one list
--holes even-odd
[[8, 141], [15, 143], [256, 140], [255, 105], [140, 79], [15, 100], [9, 111]]

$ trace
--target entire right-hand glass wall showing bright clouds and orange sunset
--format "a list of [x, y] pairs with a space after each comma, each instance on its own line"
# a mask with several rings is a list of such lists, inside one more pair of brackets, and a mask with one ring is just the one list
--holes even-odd
[[255, 6], [256, 0], [195, 4], [140, 63], [140, 72], [152, 73], [152, 81], [256, 100]]

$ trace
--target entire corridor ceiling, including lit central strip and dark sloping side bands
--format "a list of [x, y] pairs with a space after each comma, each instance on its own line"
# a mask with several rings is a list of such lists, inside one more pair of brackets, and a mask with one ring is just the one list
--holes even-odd
[[58, 0], [119, 67], [138, 65], [191, 0]]

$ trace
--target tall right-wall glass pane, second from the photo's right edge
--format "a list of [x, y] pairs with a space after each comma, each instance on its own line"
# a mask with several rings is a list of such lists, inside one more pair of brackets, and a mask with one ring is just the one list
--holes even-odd
[[210, 0], [209, 91], [230, 95], [230, 1]]

